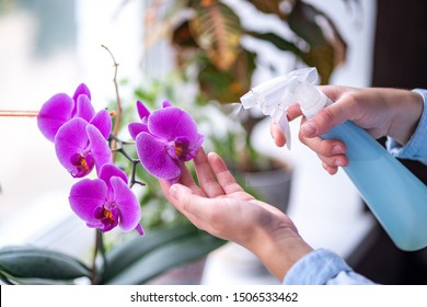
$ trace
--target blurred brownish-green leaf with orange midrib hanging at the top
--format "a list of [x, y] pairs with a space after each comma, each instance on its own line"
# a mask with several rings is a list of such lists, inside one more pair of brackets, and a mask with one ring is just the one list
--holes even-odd
[[[205, 2], [210, 2], [205, 4]], [[242, 27], [239, 16], [219, 1], [196, 1], [189, 21], [193, 38], [219, 70], [228, 70], [239, 57]]]

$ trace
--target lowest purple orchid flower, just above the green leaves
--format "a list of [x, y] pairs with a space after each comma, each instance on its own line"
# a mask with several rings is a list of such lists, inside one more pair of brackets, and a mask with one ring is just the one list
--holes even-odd
[[102, 166], [99, 179], [76, 183], [69, 201], [88, 227], [105, 232], [118, 226], [123, 231], [135, 229], [143, 235], [139, 202], [127, 186], [126, 174], [113, 164]]

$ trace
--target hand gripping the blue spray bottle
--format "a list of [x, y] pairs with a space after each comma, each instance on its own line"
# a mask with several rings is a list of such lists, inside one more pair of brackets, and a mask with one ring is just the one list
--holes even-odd
[[[367, 88], [356, 89], [338, 86], [320, 87], [334, 102], [311, 120], [301, 120], [300, 140], [314, 150], [322, 160], [324, 169], [331, 174], [338, 167], [346, 167], [348, 159], [346, 146], [336, 139], [322, 139], [320, 136], [332, 127], [351, 121], [365, 128], [373, 138], [390, 136], [404, 145], [414, 133], [423, 113], [423, 99], [419, 94], [397, 89]], [[289, 121], [301, 115], [298, 105], [288, 111]], [[277, 146], [286, 139], [276, 125], [272, 135]]]

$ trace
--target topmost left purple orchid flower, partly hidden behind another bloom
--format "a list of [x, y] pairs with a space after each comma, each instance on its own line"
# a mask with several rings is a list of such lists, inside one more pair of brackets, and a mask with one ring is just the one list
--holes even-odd
[[58, 93], [51, 96], [45, 104], [43, 104], [38, 116], [37, 124], [43, 135], [54, 141], [59, 128], [69, 122], [71, 118], [83, 118], [100, 129], [105, 139], [108, 138], [112, 123], [106, 121], [97, 121], [99, 115], [91, 104], [91, 92], [89, 88], [81, 83], [73, 94], [69, 96], [65, 93]]

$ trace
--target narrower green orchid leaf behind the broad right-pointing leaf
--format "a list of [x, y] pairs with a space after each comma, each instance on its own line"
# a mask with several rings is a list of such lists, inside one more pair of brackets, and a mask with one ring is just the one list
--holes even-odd
[[106, 254], [106, 268], [102, 277], [103, 283], [114, 278], [127, 266], [142, 259], [152, 250], [193, 236], [197, 231], [196, 227], [187, 223], [150, 231], [143, 237], [136, 237], [114, 248]]

